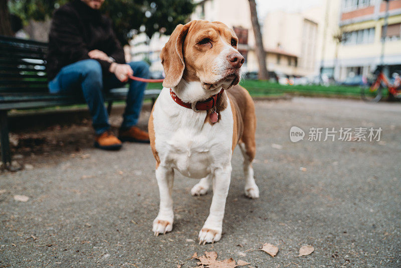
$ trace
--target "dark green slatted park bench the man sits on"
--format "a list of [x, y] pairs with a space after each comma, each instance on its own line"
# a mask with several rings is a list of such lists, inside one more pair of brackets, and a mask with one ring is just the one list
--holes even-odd
[[[0, 36], [0, 146], [2, 162], [11, 167], [8, 111], [85, 103], [82, 95], [50, 94], [46, 75], [48, 44]], [[105, 93], [110, 113], [113, 101], [124, 100], [128, 88]], [[146, 89], [145, 98], [153, 103], [159, 89]]]

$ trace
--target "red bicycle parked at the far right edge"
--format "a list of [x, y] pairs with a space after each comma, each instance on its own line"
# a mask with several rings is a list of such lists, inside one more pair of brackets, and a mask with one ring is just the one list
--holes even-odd
[[390, 83], [382, 68], [377, 68], [376, 80], [369, 86], [361, 88], [362, 99], [378, 102], [381, 98], [388, 96], [401, 100], [401, 77], [393, 73], [394, 82]]

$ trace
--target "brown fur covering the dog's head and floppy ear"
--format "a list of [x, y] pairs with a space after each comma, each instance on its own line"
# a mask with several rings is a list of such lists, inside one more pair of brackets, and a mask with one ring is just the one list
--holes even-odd
[[[199, 44], [204, 38], [210, 39], [213, 46]], [[221, 22], [194, 20], [178, 25], [160, 53], [166, 74], [163, 86], [174, 87], [181, 78], [187, 82], [201, 79], [213, 82], [214, 59], [232, 39], [238, 42], [235, 32]], [[237, 49], [237, 45], [233, 48]]]

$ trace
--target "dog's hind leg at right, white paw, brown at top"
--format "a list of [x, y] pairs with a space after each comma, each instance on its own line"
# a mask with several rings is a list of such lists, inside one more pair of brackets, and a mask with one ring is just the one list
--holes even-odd
[[254, 160], [255, 153], [252, 153], [251, 148], [247, 148], [246, 143], [239, 144], [241, 148], [242, 155], [244, 156], [244, 175], [245, 175], [245, 188], [244, 192], [248, 198], [259, 198], [259, 188], [256, 185], [254, 178], [254, 169], [252, 167], [252, 161]]

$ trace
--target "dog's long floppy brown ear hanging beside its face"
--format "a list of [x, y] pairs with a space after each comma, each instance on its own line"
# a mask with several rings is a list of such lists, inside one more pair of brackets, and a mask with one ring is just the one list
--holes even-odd
[[184, 43], [189, 26], [192, 22], [185, 25], [179, 24], [172, 32], [170, 39], [164, 45], [160, 53], [161, 64], [163, 65], [166, 77], [163, 86], [167, 88], [178, 85], [184, 72], [185, 63], [182, 55], [182, 44]]

